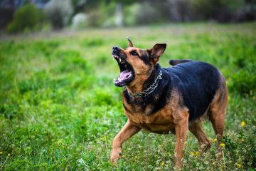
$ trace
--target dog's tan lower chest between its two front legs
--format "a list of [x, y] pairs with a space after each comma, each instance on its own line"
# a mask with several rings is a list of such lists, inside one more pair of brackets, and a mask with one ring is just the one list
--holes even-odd
[[150, 106], [144, 108], [144, 110], [139, 108], [124, 110], [124, 113], [130, 122], [144, 130], [153, 133], [169, 133], [170, 131], [174, 131], [174, 118], [168, 105], [161, 108], [161, 110], [158, 110], [156, 113], [151, 113], [149, 115], [148, 113], [150, 112]]

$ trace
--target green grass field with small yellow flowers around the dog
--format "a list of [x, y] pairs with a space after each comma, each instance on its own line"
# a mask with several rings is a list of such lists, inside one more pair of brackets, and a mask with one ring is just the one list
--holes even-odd
[[[190, 58], [213, 64], [229, 88], [224, 158], [200, 155], [189, 133], [183, 170], [256, 170], [256, 23], [171, 24], [3, 36], [0, 39], [0, 170], [173, 170], [174, 135], [141, 131], [109, 162], [127, 118], [112, 83], [112, 46], [167, 43], [161, 66]], [[224, 146], [223, 145], [223, 146]]]

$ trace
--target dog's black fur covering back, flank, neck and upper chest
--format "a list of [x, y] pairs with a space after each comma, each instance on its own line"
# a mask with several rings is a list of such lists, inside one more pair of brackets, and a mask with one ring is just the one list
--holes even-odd
[[127, 90], [124, 90], [124, 98], [127, 99], [129, 105], [132, 105], [132, 110], [139, 108], [143, 112], [149, 105], [151, 110], [145, 114], [156, 113], [166, 105], [167, 100], [171, 98], [171, 92], [178, 90], [182, 96], [183, 105], [188, 108], [189, 121], [200, 118], [218, 89], [220, 72], [217, 68], [199, 61], [186, 61], [186, 63], [169, 68], [161, 68], [159, 64], [156, 64], [149, 80], [144, 83], [145, 89], [154, 83], [160, 71], [163, 75], [159, 86], [148, 96], [141, 99], [131, 98]]

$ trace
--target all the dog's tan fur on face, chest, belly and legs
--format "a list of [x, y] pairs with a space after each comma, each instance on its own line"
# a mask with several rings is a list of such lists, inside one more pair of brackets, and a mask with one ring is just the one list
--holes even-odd
[[[129, 42], [129, 44], [131, 45], [131, 42]], [[122, 49], [122, 53], [127, 55], [126, 60], [132, 66], [135, 73], [134, 81], [127, 85], [127, 89], [132, 93], [137, 93], [143, 90], [143, 84], [149, 78], [150, 73], [154, 68], [154, 64], [159, 60], [159, 56], [151, 61], [151, 65], [146, 65], [142, 60], [138, 60], [138, 58], [131, 56], [130, 52], [137, 51], [139, 56], [141, 56], [142, 51], [145, 53], [147, 53], [147, 51], [134, 48], [132, 46], [125, 50]], [[159, 53], [160, 56], [163, 52], [164, 51], [156, 51], [156, 53]], [[212, 103], [210, 103], [208, 110], [206, 110], [206, 115], [208, 115], [211, 123], [213, 124], [213, 128], [218, 138], [218, 156], [220, 158], [222, 154], [220, 140], [223, 138], [225, 110], [228, 104], [228, 89], [225, 85], [225, 79], [223, 76], [220, 76], [219, 80], [219, 89], [215, 93], [215, 97], [213, 98]], [[158, 97], [155, 98], [157, 100]], [[176, 134], [176, 168], [181, 168], [183, 150], [186, 145], [188, 130], [190, 130], [191, 133], [196, 136], [203, 151], [208, 150], [208, 148], [210, 148], [210, 141], [202, 129], [202, 120], [204, 116], [193, 123], [188, 124], [188, 109], [183, 107], [182, 99], [183, 98], [178, 93], [178, 90], [174, 90], [171, 92], [171, 98], [169, 98], [169, 101], [166, 103], [164, 108], [161, 108], [156, 113], [149, 115], [149, 113], [151, 113], [151, 106], [147, 106], [145, 110], [142, 110], [139, 106], [134, 106], [127, 103], [127, 100], [123, 95], [122, 100], [124, 106], [126, 107], [126, 109], [124, 109], [124, 114], [127, 116], [128, 120], [124, 125], [124, 128], [122, 128], [122, 130], [113, 140], [113, 149], [110, 160], [114, 162], [115, 160], [119, 159], [119, 154], [122, 152], [122, 143], [132, 137], [132, 135], [139, 132], [141, 129], [151, 133]]]

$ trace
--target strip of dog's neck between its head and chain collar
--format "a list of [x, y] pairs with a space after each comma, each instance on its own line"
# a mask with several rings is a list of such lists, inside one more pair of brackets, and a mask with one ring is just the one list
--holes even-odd
[[141, 93], [143, 90], [146, 90], [154, 83], [159, 75], [160, 70], [161, 66], [159, 65], [159, 63], [157, 63], [153, 71], [151, 71], [149, 78], [147, 78], [144, 83], [141, 83], [139, 85], [135, 84], [134, 86], [127, 86], [127, 90], [131, 93]]

